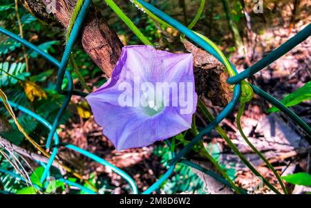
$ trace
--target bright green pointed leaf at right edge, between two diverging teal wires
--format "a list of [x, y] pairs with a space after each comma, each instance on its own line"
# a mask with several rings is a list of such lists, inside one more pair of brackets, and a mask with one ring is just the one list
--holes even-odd
[[[305, 100], [311, 100], [311, 81], [306, 83], [303, 87], [299, 88], [298, 90], [294, 91], [294, 93], [290, 93], [290, 95], [284, 97], [281, 100], [281, 103], [285, 104], [285, 106], [295, 106]], [[273, 106], [268, 110], [269, 113], [279, 111], [278, 108]]]

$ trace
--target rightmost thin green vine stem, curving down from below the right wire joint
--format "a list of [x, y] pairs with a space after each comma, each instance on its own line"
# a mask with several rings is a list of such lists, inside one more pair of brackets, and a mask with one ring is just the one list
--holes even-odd
[[265, 164], [267, 164], [267, 167], [269, 167], [270, 170], [274, 173], [276, 178], [279, 180], [279, 183], [280, 183], [284, 193], [288, 194], [288, 190], [285, 188], [285, 185], [283, 184], [283, 181], [282, 181], [281, 177], [279, 176], [279, 173], [276, 172], [276, 170], [274, 169], [272, 164], [270, 164], [270, 162], [265, 158], [265, 156], [263, 156], [263, 154], [261, 154], [261, 152], [258, 151], [258, 149], [256, 149], [256, 147], [252, 144], [252, 142], [250, 142], [247, 139], [247, 136], [243, 132], [243, 129], [241, 127], [241, 116], [243, 115], [244, 109], [245, 109], [245, 102], [241, 102], [241, 106], [240, 106], [240, 108], [238, 108], [238, 115], [236, 115], [236, 125], [238, 126], [238, 131], [241, 133], [243, 139], [248, 144], [248, 146], [250, 146], [252, 148], [254, 153], [256, 153], [261, 158], [261, 160], [263, 160], [263, 162], [265, 162]]

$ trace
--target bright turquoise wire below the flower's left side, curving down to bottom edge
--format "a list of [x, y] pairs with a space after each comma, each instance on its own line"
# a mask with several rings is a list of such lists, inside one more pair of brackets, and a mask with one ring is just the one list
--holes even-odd
[[133, 194], [138, 194], [138, 188], [135, 184], [135, 181], [131, 178], [131, 176], [129, 176], [127, 173], [125, 173], [121, 169], [118, 169], [117, 167], [115, 167], [113, 164], [110, 164], [106, 160], [104, 160], [104, 159], [98, 157], [97, 155], [94, 155], [93, 153], [90, 153], [84, 149], [81, 149], [77, 146], [74, 146], [73, 144], [66, 144], [65, 147], [68, 149], [72, 149], [73, 151], [77, 151], [78, 153], [81, 153], [82, 155], [85, 155], [86, 157], [91, 158], [91, 159], [95, 160], [96, 162], [99, 162], [100, 164], [111, 168], [115, 173], [119, 174], [122, 178], [124, 178], [127, 182], [129, 182], [129, 185], [132, 188]]

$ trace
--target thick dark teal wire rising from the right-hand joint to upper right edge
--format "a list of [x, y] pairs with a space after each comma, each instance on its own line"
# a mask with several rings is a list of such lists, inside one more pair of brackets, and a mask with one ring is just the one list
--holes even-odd
[[259, 70], [262, 70], [266, 66], [270, 65], [272, 62], [274, 62], [276, 59], [279, 59], [279, 57], [283, 56], [285, 53], [288, 53], [288, 51], [292, 50], [295, 46], [300, 44], [302, 41], [307, 39], [311, 35], [311, 23], [308, 24], [303, 30], [298, 32], [294, 37], [286, 41], [284, 44], [279, 46], [279, 48], [276, 48], [271, 53], [263, 57], [259, 62], [254, 64], [253, 66], [250, 66], [246, 70], [243, 70], [243, 72], [239, 73], [238, 75], [234, 77], [229, 77], [227, 79], [227, 83], [229, 84], [236, 84], [241, 82], [243, 79], [246, 79], [255, 73], [257, 73]]

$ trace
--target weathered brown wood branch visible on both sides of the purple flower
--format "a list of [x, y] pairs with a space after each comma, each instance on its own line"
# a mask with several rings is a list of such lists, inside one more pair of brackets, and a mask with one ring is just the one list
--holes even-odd
[[[50, 4], [50, 0], [23, 0], [23, 3], [35, 17], [48, 23], [59, 21], [65, 28], [68, 26], [75, 6], [74, 0], [59, 0], [55, 5]], [[55, 11], [53, 17], [46, 13], [46, 6], [50, 6], [49, 10]], [[117, 34], [109, 28], [102, 15], [93, 6], [89, 9], [84, 22], [81, 41], [93, 62], [107, 77], [111, 77], [123, 45]], [[223, 64], [189, 41], [186, 41], [185, 48], [194, 54], [197, 93], [205, 95], [214, 105], [225, 106], [232, 98], [232, 90], [225, 82], [227, 73], [223, 73]]]

